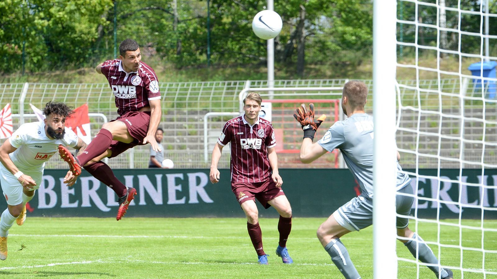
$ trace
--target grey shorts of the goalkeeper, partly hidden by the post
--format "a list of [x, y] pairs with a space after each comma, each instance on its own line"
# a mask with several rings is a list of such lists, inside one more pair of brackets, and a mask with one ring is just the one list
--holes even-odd
[[[413, 195], [413, 187], [411, 184], [408, 184], [406, 187], [397, 191], [397, 193]], [[409, 216], [413, 203], [414, 197], [397, 195], [397, 213]], [[333, 216], [338, 224], [350, 231], [369, 227], [373, 224], [373, 199], [366, 195], [355, 197], [333, 212]], [[408, 224], [409, 218], [397, 216], [397, 228], [405, 228]]]

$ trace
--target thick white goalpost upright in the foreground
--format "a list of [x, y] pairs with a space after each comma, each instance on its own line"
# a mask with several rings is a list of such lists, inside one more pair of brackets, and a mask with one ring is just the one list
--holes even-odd
[[[396, 0], [373, 2], [373, 272], [397, 278], [396, 181]], [[393, 264], [395, 263], [395, 264]]]

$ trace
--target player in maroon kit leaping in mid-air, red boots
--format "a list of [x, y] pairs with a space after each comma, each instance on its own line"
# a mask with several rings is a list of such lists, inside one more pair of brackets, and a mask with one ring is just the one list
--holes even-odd
[[[136, 145], [150, 143], [161, 151], [154, 135], [161, 120], [161, 93], [154, 70], [141, 62], [138, 43], [126, 39], [119, 45], [119, 58], [107, 60], [96, 67], [109, 81], [115, 95], [119, 117], [105, 123], [84, 152], [77, 158], [63, 146], [59, 148], [73, 173], [81, 173], [81, 166], [103, 184], [116, 192], [119, 202], [117, 220], [120, 220], [136, 190], [126, 188], [114, 175], [103, 158], [115, 157]], [[117, 121], [116, 121], [117, 120]]]

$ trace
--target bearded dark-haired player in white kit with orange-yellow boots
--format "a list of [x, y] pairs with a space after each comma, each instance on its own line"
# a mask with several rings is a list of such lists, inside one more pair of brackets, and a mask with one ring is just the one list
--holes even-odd
[[[7, 258], [7, 234], [17, 220], [26, 219], [26, 203], [40, 187], [45, 162], [58, 151], [60, 144], [83, 152], [86, 143], [71, 129], [64, 127], [73, 107], [64, 103], [48, 102], [43, 109], [43, 122], [23, 124], [0, 146], [0, 184], [7, 209], [0, 218], [0, 260]], [[77, 175], [81, 174], [78, 173]], [[78, 176], [68, 171], [64, 183], [72, 186]]]

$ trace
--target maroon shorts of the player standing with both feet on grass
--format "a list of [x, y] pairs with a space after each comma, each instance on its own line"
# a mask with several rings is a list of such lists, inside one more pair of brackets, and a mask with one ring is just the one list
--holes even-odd
[[259, 201], [259, 203], [268, 209], [271, 205], [267, 202], [281, 195], [285, 195], [281, 188], [276, 187], [276, 183], [269, 178], [264, 182], [259, 183], [242, 183], [232, 182], [231, 190], [237, 197], [238, 203], [242, 205], [247, 201]]

